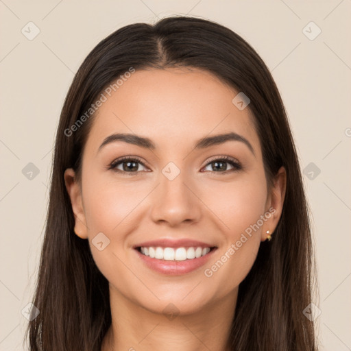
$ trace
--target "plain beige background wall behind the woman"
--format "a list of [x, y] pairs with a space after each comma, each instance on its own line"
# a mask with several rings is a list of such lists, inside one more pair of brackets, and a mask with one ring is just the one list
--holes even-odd
[[[351, 350], [350, 0], [0, 0], [0, 10], [1, 351], [25, 350], [27, 320], [21, 311], [35, 283], [53, 137], [73, 74], [114, 30], [171, 14], [202, 16], [230, 27], [271, 70], [302, 171], [311, 162], [320, 169], [310, 179], [309, 165], [304, 184], [313, 211], [321, 350]], [[40, 29], [33, 40], [21, 32], [29, 21]], [[311, 21], [322, 29], [314, 40], [304, 34], [317, 34]], [[29, 162], [39, 170], [32, 180], [22, 173]]]

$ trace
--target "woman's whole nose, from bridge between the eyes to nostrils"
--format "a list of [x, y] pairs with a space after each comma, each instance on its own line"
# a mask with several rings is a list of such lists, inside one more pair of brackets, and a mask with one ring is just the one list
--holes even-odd
[[[199, 201], [194, 195], [193, 182], [186, 171], [169, 162], [160, 172], [160, 184], [152, 208], [154, 221], [167, 221], [172, 226], [182, 221], [199, 219]], [[189, 189], [190, 188], [190, 189]]]

